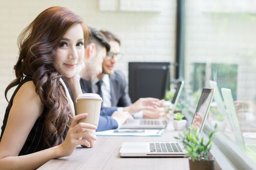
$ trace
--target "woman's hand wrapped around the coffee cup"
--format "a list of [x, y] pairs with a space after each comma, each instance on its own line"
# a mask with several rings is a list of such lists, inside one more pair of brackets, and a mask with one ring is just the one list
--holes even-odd
[[73, 117], [67, 136], [64, 142], [59, 145], [61, 157], [71, 155], [78, 145], [90, 147], [91, 144], [88, 141], [97, 140], [95, 135], [84, 131], [95, 130], [97, 126], [89, 123], [78, 123], [80, 119], [85, 118], [87, 115], [87, 113], [82, 113]]

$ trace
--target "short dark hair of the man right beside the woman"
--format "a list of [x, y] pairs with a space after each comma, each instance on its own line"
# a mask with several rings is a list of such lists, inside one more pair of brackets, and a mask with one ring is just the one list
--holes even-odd
[[100, 31], [96, 30], [95, 28], [90, 28], [91, 34], [87, 41], [87, 45], [94, 43], [96, 44], [96, 49], [98, 50], [97, 46], [105, 47], [106, 51], [110, 50], [110, 45], [108, 43], [108, 39], [102, 34]]

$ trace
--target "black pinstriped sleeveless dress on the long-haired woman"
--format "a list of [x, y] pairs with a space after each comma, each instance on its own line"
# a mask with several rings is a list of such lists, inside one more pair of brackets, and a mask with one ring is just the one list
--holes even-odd
[[[25, 77], [20, 84], [18, 85], [18, 87], [16, 88], [15, 92], [12, 95], [12, 98], [5, 110], [5, 115], [4, 115], [4, 119], [3, 119], [3, 125], [1, 127], [1, 136], [0, 136], [0, 142], [2, 139], [2, 135], [4, 133], [6, 124], [7, 124], [7, 120], [8, 120], [8, 116], [9, 116], [9, 112], [11, 110], [12, 104], [13, 104], [13, 99], [16, 95], [16, 93], [18, 92], [18, 90], [20, 89], [21, 85], [23, 85], [24, 83], [31, 81], [31, 78]], [[25, 155], [25, 154], [30, 154], [30, 153], [35, 153], [44, 149], [47, 149], [49, 147], [47, 147], [43, 141], [42, 138], [42, 133], [43, 133], [43, 127], [44, 127], [44, 122], [46, 119], [46, 114], [47, 114], [47, 110], [46, 107], [44, 107], [43, 112], [41, 114], [41, 116], [36, 120], [36, 123], [34, 124], [33, 128], [31, 129], [25, 143], [24, 146], [22, 147], [19, 155]], [[66, 131], [63, 134], [63, 138], [65, 138], [66, 136]]]

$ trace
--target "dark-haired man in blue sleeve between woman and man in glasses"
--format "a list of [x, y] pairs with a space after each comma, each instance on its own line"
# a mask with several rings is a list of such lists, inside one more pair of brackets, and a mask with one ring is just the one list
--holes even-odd
[[[80, 71], [80, 84], [82, 92], [83, 82], [85, 80], [91, 81], [102, 71], [102, 62], [106, 57], [107, 51], [110, 50], [105, 36], [96, 29], [90, 28], [91, 35], [84, 46], [84, 65], [85, 67]], [[117, 129], [127, 119], [133, 119], [128, 112], [117, 111], [117, 109], [102, 109], [98, 122], [98, 129], [96, 131], [103, 131], [109, 129]]]

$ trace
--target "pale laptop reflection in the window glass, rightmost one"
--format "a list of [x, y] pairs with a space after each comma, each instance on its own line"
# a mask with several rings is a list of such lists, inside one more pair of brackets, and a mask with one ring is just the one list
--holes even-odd
[[236, 114], [236, 108], [234, 105], [234, 100], [232, 96], [231, 89], [229, 88], [221, 88], [221, 93], [227, 107], [227, 113], [230, 119], [231, 126], [234, 131], [236, 144], [243, 150], [247, 152], [256, 153], [256, 145], [245, 144], [242, 136], [242, 132], [240, 129], [239, 121]]

